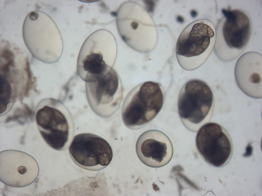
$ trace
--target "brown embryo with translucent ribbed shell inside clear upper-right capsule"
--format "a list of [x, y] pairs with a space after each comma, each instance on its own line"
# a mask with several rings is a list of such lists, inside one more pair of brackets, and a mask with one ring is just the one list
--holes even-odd
[[214, 31], [210, 26], [197, 23], [190, 32], [181, 34], [177, 40], [176, 53], [186, 57], [202, 54], [209, 46]]

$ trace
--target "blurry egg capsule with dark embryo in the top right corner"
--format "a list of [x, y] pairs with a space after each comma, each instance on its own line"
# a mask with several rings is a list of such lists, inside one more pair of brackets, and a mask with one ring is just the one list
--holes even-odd
[[215, 53], [223, 61], [230, 61], [245, 49], [251, 35], [251, 21], [241, 10], [223, 9], [224, 17], [216, 26]]

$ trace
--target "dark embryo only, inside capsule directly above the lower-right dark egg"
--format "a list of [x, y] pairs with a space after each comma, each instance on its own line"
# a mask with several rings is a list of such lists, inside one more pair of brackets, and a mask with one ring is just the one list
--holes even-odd
[[185, 93], [178, 100], [178, 113], [192, 123], [201, 122], [212, 105], [212, 92], [200, 80], [192, 80], [185, 86]]

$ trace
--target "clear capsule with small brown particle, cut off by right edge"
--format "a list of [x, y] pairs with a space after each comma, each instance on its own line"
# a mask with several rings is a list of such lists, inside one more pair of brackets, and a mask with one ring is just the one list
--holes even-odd
[[262, 98], [262, 55], [257, 52], [243, 54], [236, 63], [235, 77], [245, 94]]

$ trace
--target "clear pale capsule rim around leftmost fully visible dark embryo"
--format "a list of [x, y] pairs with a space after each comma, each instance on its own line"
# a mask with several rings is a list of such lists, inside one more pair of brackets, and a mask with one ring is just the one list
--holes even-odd
[[[48, 103], [48, 102], [50, 102], [50, 103]], [[52, 106], [50, 106], [50, 105], [52, 105]], [[67, 141], [64, 143], [63, 147], [61, 147], [61, 148], [58, 148], [58, 149], [57, 148], [53, 148], [51, 145], [49, 145], [47, 143], [47, 141], [45, 140], [45, 138], [41, 134], [41, 130], [44, 129], [44, 128], [42, 128], [42, 126], [37, 123], [36, 115], [37, 115], [37, 112], [40, 109], [43, 109], [45, 106], [51, 107], [51, 108], [56, 109], [59, 112], [61, 112], [63, 114], [63, 117], [65, 118], [65, 120], [67, 122], [67, 126], [68, 126]], [[57, 106], [59, 107], [59, 109], [57, 108]], [[63, 109], [63, 111], [61, 111], [61, 109]], [[67, 114], [64, 114], [64, 112], [67, 112]], [[74, 120], [73, 120], [73, 117], [72, 117], [71, 113], [69, 112], [67, 107], [65, 107], [65, 105], [62, 102], [60, 102], [60, 101], [58, 101], [56, 99], [53, 99], [53, 98], [44, 98], [44, 99], [42, 99], [36, 105], [34, 120], [35, 120], [37, 129], [39, 131], [39, 134], [41, 135], [42, 139], [45, 141], [45, 143], [50, 148], [52, 148], [54, 150], [57, 150], [57, 151], [64, 151], [71, 145], [71, 143], [73, 141], [73, 137], [74, 137], [74, 132], [75, 132], [75, 130], [74, 130], [74, 127], [75, 127], [74, 126]]]

